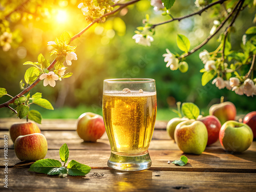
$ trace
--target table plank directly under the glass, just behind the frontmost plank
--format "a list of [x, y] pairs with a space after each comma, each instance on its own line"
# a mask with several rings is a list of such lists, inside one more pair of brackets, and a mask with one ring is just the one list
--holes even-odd
[[[227, 154], [223, 150], [206, 150], [201, 155], [185, 154], [188, 163], [185, 166], [176, 166], [167, 162], [178, 160], [182, 154], [179, 150], [149, 150], [152, 159], [151, 170], [193, 171], [193, 172], [232, 172], [256, 173], [256, 153], [247, 150], [243, 154]], [[0, 150], [4, 154], [4, 150]], [[108, 169], [106, 165], [110, 151], [71, 150], [70, 160], [87, 164], [98, 169]], [[45, 158], [59, 159], [58, 150], [48, 150]], [[0, 158], [3, 162], [3, 157]], [[20, 162], [14, 150], [8, 150], [8, 165], [13, 166]], [[2, 166], [3, 167], [3, 166]]]

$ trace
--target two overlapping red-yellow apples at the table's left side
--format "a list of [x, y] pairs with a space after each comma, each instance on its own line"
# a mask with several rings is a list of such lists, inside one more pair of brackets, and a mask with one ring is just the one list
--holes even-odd
[[45, 158], [48, 151], [47, 140], [35, 123], [13, 124], [10, 128], [10, 136], [19, 160], [37, 161]]

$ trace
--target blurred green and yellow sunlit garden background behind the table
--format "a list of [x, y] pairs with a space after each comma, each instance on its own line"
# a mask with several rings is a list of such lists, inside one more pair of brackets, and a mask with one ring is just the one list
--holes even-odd
[[[11, 3], [15, 4], [15, 1]], [[88, 25], [81, 10], [77, 8], [79, 3], [80, 1], [76, 0], [31, 1], [34, 6], [25, 7], [25, 10], [29, 11], [16, 12], [10, 16], [10, 28], [15, 30], [16, 40], [13, 40], [12, 49], [8, 52], [0, 50], [0, 87], [6, 88], [8, 94], [15, 96], [20, 92], [19, 81], [24, 79], [24, 74], [29, 68], [23, 66], [23, 62], [37, 61], [37, 55], [40, 53], [52, 61], [52, 48], [47, 46], [47, 42], [59, 37], [63, 31], [73, 36]], [[176, 1], [172, 15], [177, 17], [197, 10], [194, 1]], [[218, 36], [200, 51], [187, 57], [187, 73], [170, 71], [165, 67], [162, 54], [166, 53], [166, 48], [181, 54], [176, 45], [177, 33], [186, 35], [193, 48], [209, 35], [213, 20], [218, 19], [219, 13], [213, 18], [208, 16], [208, 10], [202, 16], [196, 15], [181, 22], [159, 26], [156, 28], [152, 46], [144, 47], [135, 44], [132, 36], [136, 27], [143, 25], [142, 19], [146, 13], [150, 14], [151, 23], [169, 19], [168, 16], [162, 16], [161, 11], [154, 12], [150, 1], [142, 0], [109, 17], [105, 23], [94, 25], [73, 41], [71, 45], [77, 46], [78, 60], [72, 61], [72, 66], [67, 71], [73, 72], [73, 76], [57, 81], [54, 88], [44, 87], [42, 82], [39, 82], [31, 90], [31, 94], [41, 92], [42, 97], [48, 99], [55, 110], [49, 111], [33, 105], [31, 109], [38, 110], [42, 118], [78, 118], [82, 113], [89, 111], [102, 114], [104, 79], [140, 77], [156, 79], [158, 120], [177, 117], [172, 112], [172, 109], [177, 108], [177, 101], [194, 102], [202, 114], [208, 115], [209, 107], [219, 103], [221, 96], [225, 97], [224, 101], [231, 101], [237, 106], [238, 114], [256, 111], [254, 97], [240, 96], [226, 89], [219, 90], [211, 82], [202, 87], [202, 74], [199, 70], [203, 68], [203, 63], [198, 54], [203, 49], [214, 51], [219, 46]], [[242, 36], [248, 27], [254, 25], [254, 15], [255, 9], [248, 9], [239, 15], [231, 35], [233, 49], [241, 49]], [[8, 96], [4, 96], [0, 98], [0, 102], [8, 99]], [[0, 117], [10, 116], [13, 115], [9, 109], [0, 109]]]

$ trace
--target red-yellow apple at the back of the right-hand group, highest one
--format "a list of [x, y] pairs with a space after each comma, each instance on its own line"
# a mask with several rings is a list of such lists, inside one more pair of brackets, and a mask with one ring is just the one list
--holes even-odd
[[212, 105], [209, 109], [209, 114], [216, 116], [223, 124], [226, 121], [234, 120], [237, 115], [237, 109], [233, 103], [226, 101]]

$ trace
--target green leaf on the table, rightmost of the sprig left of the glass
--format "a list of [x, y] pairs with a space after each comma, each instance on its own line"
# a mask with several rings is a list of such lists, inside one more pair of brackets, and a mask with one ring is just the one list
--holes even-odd
[[91, 171], [90, 166], [78, 163], [75, 160], [71, 160], [67, 168], [69, 169], [68, 171], [69, 175], [72, 175], [72, 176], [78, 176], [78, 175], [84, 176]]

